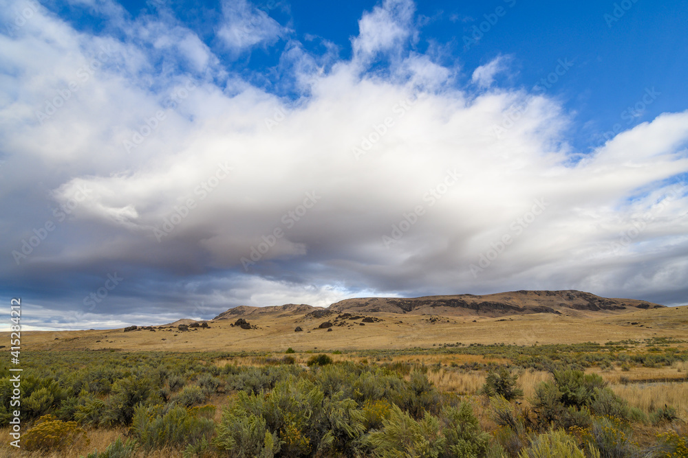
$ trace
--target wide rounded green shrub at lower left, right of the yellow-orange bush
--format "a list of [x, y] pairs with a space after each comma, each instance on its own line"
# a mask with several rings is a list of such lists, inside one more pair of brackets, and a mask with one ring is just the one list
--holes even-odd
[[213, 435], [215, 424], [197, 411], [167, 404], [166, 406], [136, 408], [131, 424], [138, 444], [145, 450], [186, 447], [187, 444], [198, 444], [201, 439], [206, 442]]

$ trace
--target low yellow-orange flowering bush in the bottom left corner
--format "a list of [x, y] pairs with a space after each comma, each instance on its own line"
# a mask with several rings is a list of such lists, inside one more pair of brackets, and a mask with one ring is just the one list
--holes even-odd
[[86, 431], [79, 428], [76, 422], [56, 420], [52, 415], [39, 418], [36, 425], [23, 436], [24, 448], [28, 451], [43, 452], [62, 451], [72, 444], [88, 446]]

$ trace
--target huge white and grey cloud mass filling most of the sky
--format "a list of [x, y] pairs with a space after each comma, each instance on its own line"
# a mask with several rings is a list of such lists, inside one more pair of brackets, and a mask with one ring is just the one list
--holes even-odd
[[[295, 101], [236, 74], [215, 82], [206, 71], [222, 69], [212, 51], [192, 32], [160, 24], [138, 24], [138, 38], [116, 41], [37, 16], [34, 28], [0, 38], [0, 174], [3, 193], [17, 196], [0, 204], [13, 215], [0, 244], [11, 253], [46, 220], [57, 225], [19, 266], [7, 256], [3, 277], [67, 278], [78, 297], [69, 275], [127, 271], [122, 288], [131, 291], [116, 303], [122, 314], [141, 304], [186, 310], [193, 301], [327, 305], [356, 291], [580, 288], [676, 297], [688, 268], [688, 198], [671, 180], [688, 172], [688, 112], [640, 124], [571, 165], [562, 134], [570, 120], [555, 100], [506, 89], [469, 96], [454, 69], [402, 52], [412, 11], [412, 3], [387, 1], [365, 14], [356, 56], [329, 69], [299, 43], [288, 46], [283, 71], [310, 89]], [[241, 14], [236, 21], [246, 21]], [[78, 80], [101, 44], [114, 49], [111, 60], [38, 122], [35, 112]], [[177, 65], [173, 46], [197, 76]], [[361, 56], [377, 52], [400, 53], [390, 78], [362, 72]], [[160, 58], [171, 63], [156, 67]], [[500, 59], [476, 70], [474, 82], [489, 86], [503, 71]], [[189, 80], [175, 106], [164, 102]], [[502, 138], [491, 135], [515, 104], [528, 109]], [[136, 133], [142, 141], [127, 153], [123, 141]], [[358, 160], [354, 148], [365, 151]], [[219, 179], [224, 163], [233, 170]], [[443, 188], [447, 170], [462, 178]], [[92, 192], [56, 220], [53, 209], [72, 205], [79, 186]], [[308, 192], [321, 198], [301, 214]], [[514, 222], [543, 198], [546, 210], [517, 223], [516, 234]], [[383, 236], [419, 205], [422, 216], [385, 247]], [[620, 233], [647, 212], [645, 228], [617, 248]], [[173, 214], [180, 222], [158, 242], [153, 229]], [[246, 273], [241, 258], [276, 229], [283, 236]], [[471, 264], [504, 235], [513, 243], [474, 277]]]

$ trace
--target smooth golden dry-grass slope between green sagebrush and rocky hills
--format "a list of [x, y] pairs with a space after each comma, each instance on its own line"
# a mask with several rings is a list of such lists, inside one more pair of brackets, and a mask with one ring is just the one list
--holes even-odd
[[[288, 347], [305, 350], [365, 350], [432, 347], [443, 343], [582, 343], [671, 337], [685, 339], [688, 307], [642, 310], [623, 314], [567, 316], [530, 314], [504, 319], [448, 317], [449, 323], [429, 323], [417, 314], [371, 313], [380, 323], [335, 326], [332, 332], [315, 329], [327, 318], [305, 318], [303, 314], [256, 314], [248, 316], [257, 330], [230, 326], [233, 320], [211, 321], [210, 329], [180, 332], [176, 329], [63, 331], [22, 333], [31, 350], [162, 350], [175, 352], [272, 351]], [[473, 320], [475, 319], [475, 323]], [[402, 323], [399, 323], [402, 321]], [[628, 322], [647, 323], [643, 327]], [[147, 325], [150, 323], [140, 323]], [[303, 332], [294, 332], [296, 326]], [[177, 334], [177, 335], [175, 335]], [[0, 332], [0, 338], [9, 338]], [[56, 340], [57, 339], [57, 340]], [[163, 340], [164, 339], [164, 340]]]

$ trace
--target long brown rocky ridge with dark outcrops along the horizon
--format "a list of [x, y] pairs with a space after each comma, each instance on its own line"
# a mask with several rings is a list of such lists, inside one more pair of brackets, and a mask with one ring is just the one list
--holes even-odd
[[502, 317], [513, 314], [553, 313], [584, 315], [594, 312], [631, 312], [663, 308], [660, 304], [637, 299], [610, 299], [577, 290], [562, 291], [510, 291], [490, 295], [448, 295], [413, 298], [361, 297], [344, 299], [327, 308], [306, 304], [284, 306], [230, 308], [215, 319], [232, 319], [251, 314], [302, 314], [319, 311], [336, 313], [399, 313], [399, 314], [442, 314], [449, 316], [475, 315], [480, 317]]

